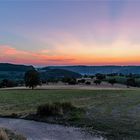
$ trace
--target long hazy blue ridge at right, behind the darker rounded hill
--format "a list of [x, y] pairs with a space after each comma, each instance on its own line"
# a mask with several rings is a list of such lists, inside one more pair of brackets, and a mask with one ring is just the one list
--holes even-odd
[[48, 66], [43, 69], [64, 69], [80, 73], [82, 75], [96, 74], [96, 73], [122, 73], [122, 74], [140, 74], [140, 66]]

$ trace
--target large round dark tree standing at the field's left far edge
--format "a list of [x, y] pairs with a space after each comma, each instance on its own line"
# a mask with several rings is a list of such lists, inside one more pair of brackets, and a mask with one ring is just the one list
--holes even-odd
[[40, 76], [36, 70], [29, 70], [25, 73], [25, 85], [26, 87], [34, 89], [37, 85], [40, 85]]

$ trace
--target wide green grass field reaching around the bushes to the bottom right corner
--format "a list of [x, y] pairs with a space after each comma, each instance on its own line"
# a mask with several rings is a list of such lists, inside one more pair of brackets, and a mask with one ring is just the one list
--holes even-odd
[[59, 101], [86, 110], [82, 125], [109, 137], [140, 138], [140, 90], [0, 90], [0, 115], [33, 113]]

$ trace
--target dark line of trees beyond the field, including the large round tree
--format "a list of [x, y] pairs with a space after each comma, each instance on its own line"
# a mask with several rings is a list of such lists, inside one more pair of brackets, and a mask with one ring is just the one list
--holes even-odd
[[[76, 79], [73, 77], [63, 77], [61, 79], [46, 79], [42, 80], [40, 78], [40, 73], [36, 70], [29, 70], [25, 73], [24, 75], [24, 80], [22, 81], [13, 81], [9, 79], [3, 79], [0, 82], [0, 88], [6, 88], [6, 87], [16, 87], [16, 86], [26, 86], [29, 88], [34, 89], [37, 85], [41, 84], [47, 84], [49, 82], [52, 83], [57, 83], [58, 81], [61, 81], [65, 84], [69, 85], [76, 85], [76, 84], [85, 84], [85, 85], [90, 85], [91, 82], [100, 85], [102, 82], [106, 81], [110, 83], [112, 86], [118, 82], [118, 77], [125, 77], [125, 82], [124, 84], [127, 87], [133, 86], [133, 87], [139, 87], [140, 82], [138, 82], [136, 79], [140, 78], [140, 75], [134, 75], [134, 74], [129, 74], [129, 75], [122, 75], [122, 74], [96, 74], [96, 75], [84, 75], [83, 78], [81, 79]], [[86, 78], [90, 78], [90, 81], [87, 81]]]

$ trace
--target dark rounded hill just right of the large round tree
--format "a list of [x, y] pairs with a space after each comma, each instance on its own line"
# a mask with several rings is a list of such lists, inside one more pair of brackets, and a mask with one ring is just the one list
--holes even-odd
[[63, 70], [63, 69], [49, 69], [44, 68], [43, 71], [40, 71], [42, 79], [61, 79], [63, 77], [72, 77], [72, 78], [79, 78], [81, 74]]

